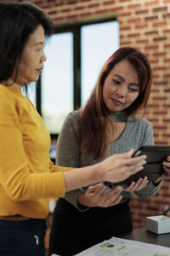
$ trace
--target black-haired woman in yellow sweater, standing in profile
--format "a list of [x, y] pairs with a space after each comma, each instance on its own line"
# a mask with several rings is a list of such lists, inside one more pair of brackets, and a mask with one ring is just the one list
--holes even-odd
[[142, 170], [145, 156], [132, 158], [132, 149], [77, 170], [54, 166], [48, 130], [20, 90], [42, 73], [52, 23], [31, 3], [0, 3], [0, 24], [0, 255], [44, 256], [48, 198], [119, 182]]

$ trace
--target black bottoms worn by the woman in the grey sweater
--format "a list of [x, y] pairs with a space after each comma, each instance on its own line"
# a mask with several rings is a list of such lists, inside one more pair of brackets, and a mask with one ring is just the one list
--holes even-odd
[[49, 255], [75, 255], [88, 247], [122, 236], [133, 230], [132, 216], [127, 203], [113, 207], [92, 207], [79, 212], [65, 199], [59, 199], [49, 238]]

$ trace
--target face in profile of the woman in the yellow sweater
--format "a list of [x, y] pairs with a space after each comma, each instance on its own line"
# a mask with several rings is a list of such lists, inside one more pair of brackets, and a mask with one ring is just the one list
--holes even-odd
[[[42, 73], [43, 61], [46, 61], [46, 55], [43, 52], [44, 43], [44, 29], [39, 25], [36, 31], [31, 34], [21, 55], [16, 84], [21, 85], [37, 81]], [[16, 69], [14, 69], [11, 77], [13, 81], [15, 72]]]

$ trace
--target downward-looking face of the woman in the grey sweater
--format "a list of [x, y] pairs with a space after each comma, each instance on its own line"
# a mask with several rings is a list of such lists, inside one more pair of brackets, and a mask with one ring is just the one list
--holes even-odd
[[105, 79], [103, 99], [111, 112], [129, 107], [139, 96], [138, 74], [127, 60], [118, 62]]

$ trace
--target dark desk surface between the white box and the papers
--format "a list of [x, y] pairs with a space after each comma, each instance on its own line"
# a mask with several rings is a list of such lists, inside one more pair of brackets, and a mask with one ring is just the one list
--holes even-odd
[[170, 233], [157, 235], [149, 230], [146, 230], [145, 227], [138, 230], [133, 230], [132, 233], [128, 234], [127, 236], [122, 236], [122, 238], [153, 243], [162, 247], [170, 247]]

